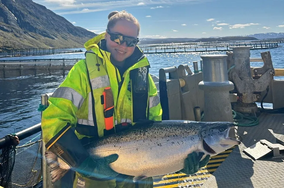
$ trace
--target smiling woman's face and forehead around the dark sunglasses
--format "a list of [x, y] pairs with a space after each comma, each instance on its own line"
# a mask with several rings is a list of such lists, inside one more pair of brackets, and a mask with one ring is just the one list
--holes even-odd
[[[137, 38], [138, 27], [127, 20], [119, 20], [116, 22], [113, 28], [110, 28], [110, 33], [120, 34], [127, 37]], [[134, 52], [135, 46], [127, 47], [126, 42], [121, 45], [110, 40], [110, 35], [106, 32], [105, 34], [106, 46], [110, 52], [112, 58], [116, 61], [122, 62], [126, 58], [130, 57]]]

